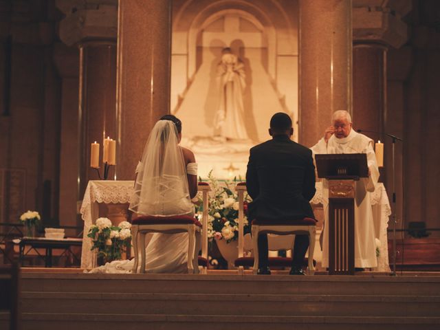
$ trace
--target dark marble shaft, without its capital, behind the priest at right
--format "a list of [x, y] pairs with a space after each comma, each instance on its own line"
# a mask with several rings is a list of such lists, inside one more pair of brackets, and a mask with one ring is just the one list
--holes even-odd
[[353, 45], [353, 127], [373, 140], [384, 140], [386, 107], [386, 46], [380, 43]]

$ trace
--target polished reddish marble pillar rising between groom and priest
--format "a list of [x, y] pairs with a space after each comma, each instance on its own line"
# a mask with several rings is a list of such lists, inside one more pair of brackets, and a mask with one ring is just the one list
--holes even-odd
[[351, 0], [299, 4], [299, 141], [313, 146], [334, 111], [351, 111]]

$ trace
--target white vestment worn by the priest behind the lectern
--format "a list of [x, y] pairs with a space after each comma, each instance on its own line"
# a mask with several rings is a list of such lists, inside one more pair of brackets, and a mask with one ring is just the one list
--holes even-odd
[[[338, 139], [334, 134], [328, 143], [322, 138], [311, 147], [314, 154], [322, 153], [366, 153], [370, 176], [355, 182], [355, 267], [377, 267], [375, 229], [370, 192], [379, 179], [379, 168], [373, 140], [351, 129], [347, 137]], [[327, 179], [322, 182], [325, 224], [322, 236], [322, 267], [329, 267], [329, 188]]]

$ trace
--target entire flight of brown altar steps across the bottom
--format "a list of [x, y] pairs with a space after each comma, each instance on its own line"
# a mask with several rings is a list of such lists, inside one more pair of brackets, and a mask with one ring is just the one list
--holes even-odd
[[23, 273], [22, 290], [32, 330], [440, 329], [437, 276]]

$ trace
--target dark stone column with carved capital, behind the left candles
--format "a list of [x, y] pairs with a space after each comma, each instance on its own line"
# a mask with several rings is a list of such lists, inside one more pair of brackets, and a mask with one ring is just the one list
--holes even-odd
[[[96, 170], [90, 168], [90, 144], [100, 143], [102, 174], [104, 137], [118, 140], [115, 111], [118, 2], [58, 0], [56, 5], [66, 14], [60, 23], [61, 40], [80, 49], [77, 158], [80, 200], [89, 179], [98, 179]], [[113, 170], [109, 178], [114, 177]]]

